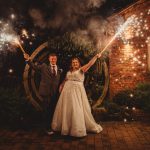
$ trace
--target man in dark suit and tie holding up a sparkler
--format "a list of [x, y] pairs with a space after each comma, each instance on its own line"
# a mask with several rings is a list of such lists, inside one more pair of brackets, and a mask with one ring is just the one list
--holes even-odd
[[56, 103], [59, 94], [60, 76], [62, 69], [57, 66], [57, 55], [51, 53], [48, 56], [49, 64], [36, 65], [31, 60], [27, 53], [24, 54], [24, 58], [28, 64], [36, 71], [41, 72], [41, 81], [39, 86], [39, 94], [43, 98], [44, 108], [44, 123], [48, 134], [53, 134], [51, 130], [51, 122], [55, 111]]

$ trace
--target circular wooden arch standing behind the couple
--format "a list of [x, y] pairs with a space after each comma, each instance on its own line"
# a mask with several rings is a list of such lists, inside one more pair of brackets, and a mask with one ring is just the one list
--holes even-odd
[[[43, 61], [44, 59], [47, 58], [48, 51], [44, 51], [45, 48], [48, 47], [48, 42], [45, 42], [41, 44], [31, 55], [31, 60], [34, 60], [37, 56], [39, 57], [39, 60]], [[43, 52], [43, 53], [42, 53]], [[42, 53], [41, 56], [39, 56], [39, 53]], [[108, 74], [108, 67], [107, 63], [104, 61], [103, 64], [103, 69], [104, 69], [104, 74], [105, 74], [105, 81], [104, 81], [104, 88], [102, 91], [101, 96], [98, 98], [98, 100], [92, 105], [92, 109], [96, 109], [97, 106], [99, 106], [108, 91], [108, 86], [109, 86], [109, 74]], [[42, 103], [42, 98], [39, 95], [38, 89], [36, 87], [35, 81], [34, 81], [34, 75], [35, 71], [30, 68], [28, 64], [26, 64], [24, 73], [23, 73], [23, 84], [24, 84], [24, 89], [27, 95], [27, 99], [31, 102], [31, 104], [35, 107], [37, 111], [42, 111], [41, 103]]]

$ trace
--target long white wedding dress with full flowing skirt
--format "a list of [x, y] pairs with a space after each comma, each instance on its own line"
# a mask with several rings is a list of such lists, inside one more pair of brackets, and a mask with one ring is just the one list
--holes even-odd
[[60, 94], [53, 116], [52, 129], [62, 135], [86, 136], [99, 133], [102, 127], [91, 114], [91, 107], [83, 85], [84, 73], [79, 69], [67, 73], [67, 81]]

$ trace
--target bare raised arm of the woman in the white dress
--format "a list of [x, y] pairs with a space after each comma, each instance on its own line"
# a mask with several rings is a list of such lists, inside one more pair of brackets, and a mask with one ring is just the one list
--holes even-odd
[[96, 62], [97, 58], [100, 57], [101, 57], [101, 53], [96, 54], [87, 64], [81, 67], [81, 70], [83, 72], [87, 72], [90, 69], [90, 67]]

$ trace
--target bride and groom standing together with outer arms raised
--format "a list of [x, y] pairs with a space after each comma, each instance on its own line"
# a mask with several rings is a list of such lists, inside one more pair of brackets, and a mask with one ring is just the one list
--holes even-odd
[[78, 58], [72, 58], [70, 70], [59, 86], [62, 71], [57, 66], [56, 54], [49, 55], [49, 65], [35, 65], [30, 61], [29, 55], [24, 54], [28, 64], [33, 69], [41, 71], [39, 93], [43, 97], [47, 128], [60, 131], [62, 135], [74, 137], [84, 137], [87, 132], [99, 133], [102, 131], [102, 127], [95, 122], [92, 116], [83, 83], [84, 73], [100, 57], [101, 54], [95, 55], [84, 66], [81, 66]]

